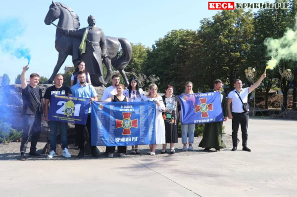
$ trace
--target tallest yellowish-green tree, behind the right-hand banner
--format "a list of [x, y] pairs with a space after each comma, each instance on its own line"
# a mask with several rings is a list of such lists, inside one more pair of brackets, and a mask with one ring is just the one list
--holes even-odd
[[[212, 87], [215, 79], [230, 86], [243, 75], [253, 39], [252, 13], [243, 9], [223, 10], [203, 19], [198, 31], [201, 40], [197, 69], [202, 81]], [[201, 82], [201, 79], [198, 79]]]

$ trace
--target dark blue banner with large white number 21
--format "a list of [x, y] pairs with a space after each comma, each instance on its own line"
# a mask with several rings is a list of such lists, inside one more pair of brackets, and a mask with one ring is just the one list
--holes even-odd
[[53, 94], [50, 97], [49, 120], [87, 124], [89, 98]]

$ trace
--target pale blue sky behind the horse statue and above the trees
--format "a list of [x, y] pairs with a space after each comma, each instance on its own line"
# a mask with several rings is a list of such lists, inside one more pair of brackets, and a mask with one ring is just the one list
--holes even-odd
[[[221, 0], [61, 0], [80, 18], [80, 28], [87, 27], [93, 15], [96, 25], [105, 36], [121, 37], [131, 43], [141, 42], [151, 47], [171, 30], [198, 30], [203, 18], [211, 18], [218, 10], [208, 10], [208, 1]], [[267, 1], [267, 0], [266, 0]], [[237, 2], [255, 2], [237, 0]], [[256, 0], [264, 2], [264, 0]], [[273, 2], [270, 0], [269, 2]], [[0, 76], [7, 74], [13, 84], [22, 67], [30, 60], [29, 74], [38, 73], [49, 78], [56, 65], [58, 52], [54, 47], [55, 30], [44, 19], [51, 0], [5, 0], [0, 14]], [[252, 11], [257, 11], [253, 9]], [[54, 21], [57, 24], [57, 20]], [[65, 66], [71, 66], [68, 56]]]

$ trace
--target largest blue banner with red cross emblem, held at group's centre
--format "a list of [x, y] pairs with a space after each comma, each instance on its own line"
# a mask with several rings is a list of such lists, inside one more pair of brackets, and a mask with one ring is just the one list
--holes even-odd
[[92, 146], [155, 144], [154, 102], [92, 101]]

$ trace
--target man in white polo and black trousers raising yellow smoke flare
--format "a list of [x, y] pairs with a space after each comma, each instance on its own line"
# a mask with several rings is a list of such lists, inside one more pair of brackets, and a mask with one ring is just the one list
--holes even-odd
[[[243, 88], [243, 82], [240, 79], [236, 79], [234, 82], [235, 89], [228, 94], [228, 118], [232, 119], [232, 151], [237, 150], [237, 132], [239, 125], [241, 125], [242, 130], [243, 151], [251, 151], [249, 148], [247, 148], [248, 110], [247, 112], [244, 111], [243, 103], [247, 103], [247, 95], [256, 89], [265, 77], [266, 74], [264, 73], [260, 79], [258, 79], [252, 86], [247, 88]], [[231, 103], [232, 112], [230, 108]]]

